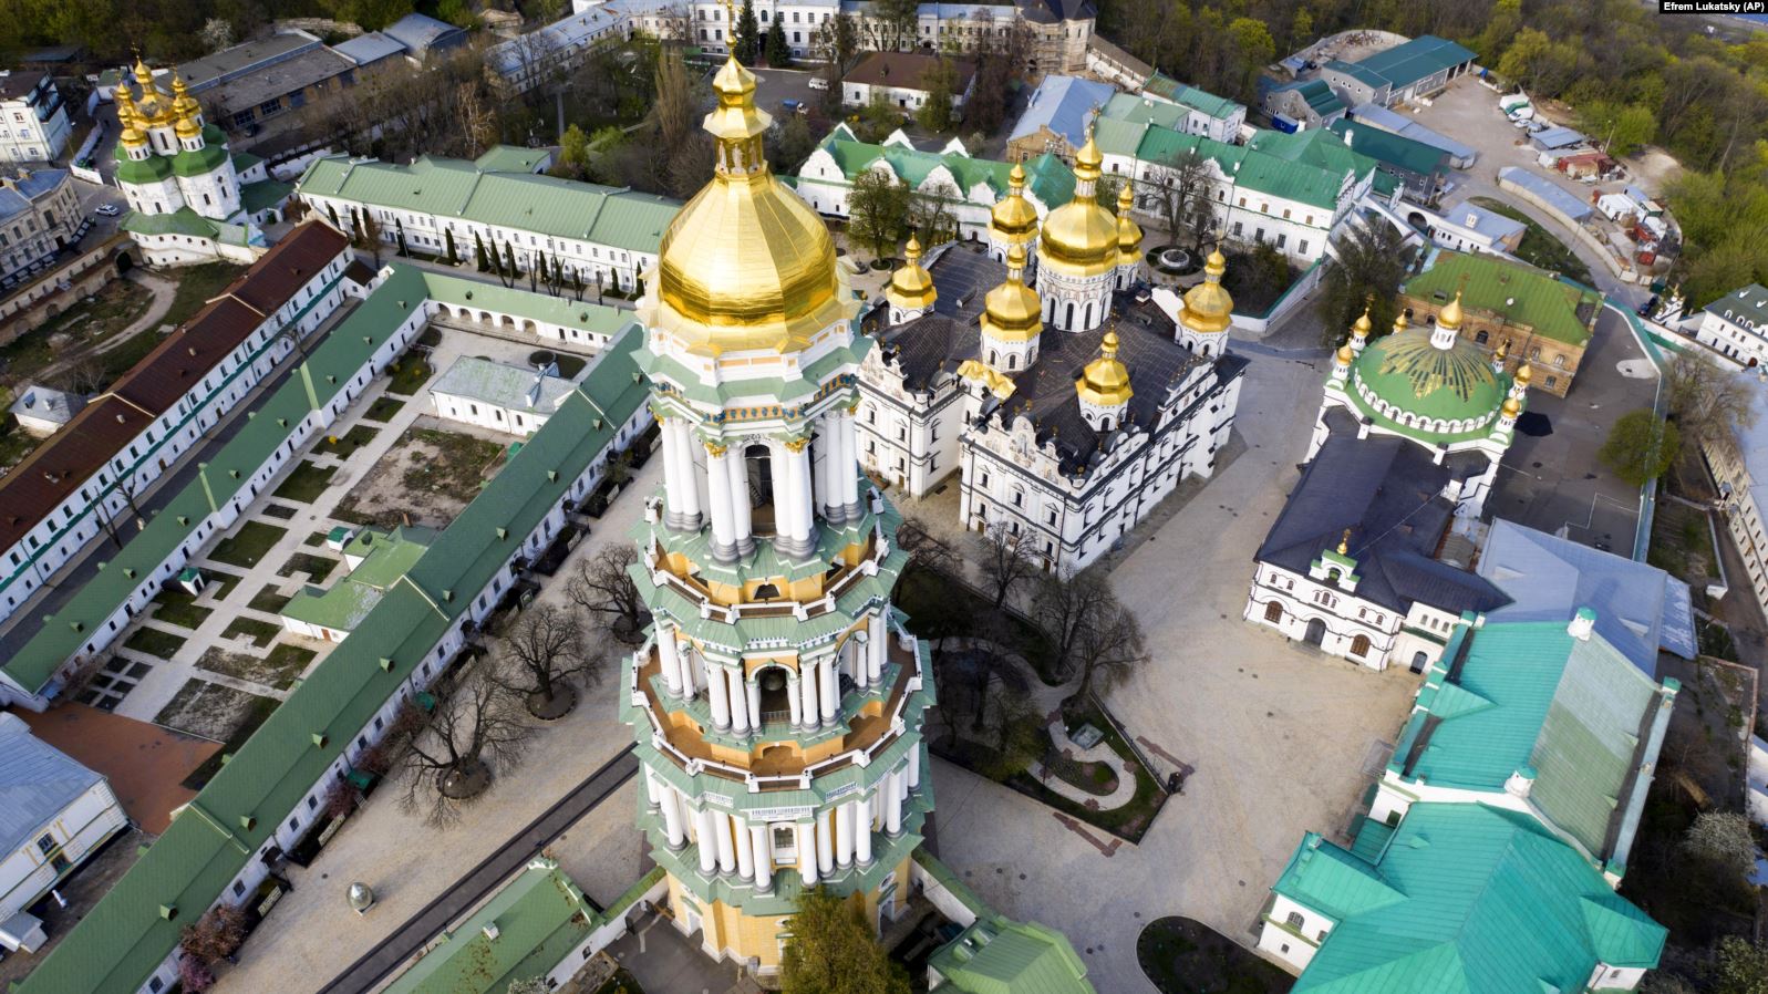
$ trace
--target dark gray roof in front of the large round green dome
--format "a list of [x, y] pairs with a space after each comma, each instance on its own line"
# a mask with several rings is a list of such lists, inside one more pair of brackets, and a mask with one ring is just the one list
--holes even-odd
[[1333, 423], [1331, 437], [1301, 470], [1257, 561], [1305, 575], [1351, 529], [1358, 598], [1402, 614], [1414, 601], [1450, 614], [1492, 610], [1508, 600], [1503, 591], [1434, 559], [1455, 516], [1443, 488], [1476, 470], [1455, 456], [1436, 463], [1409, 439], [1358, 439], [1354, 426]]

